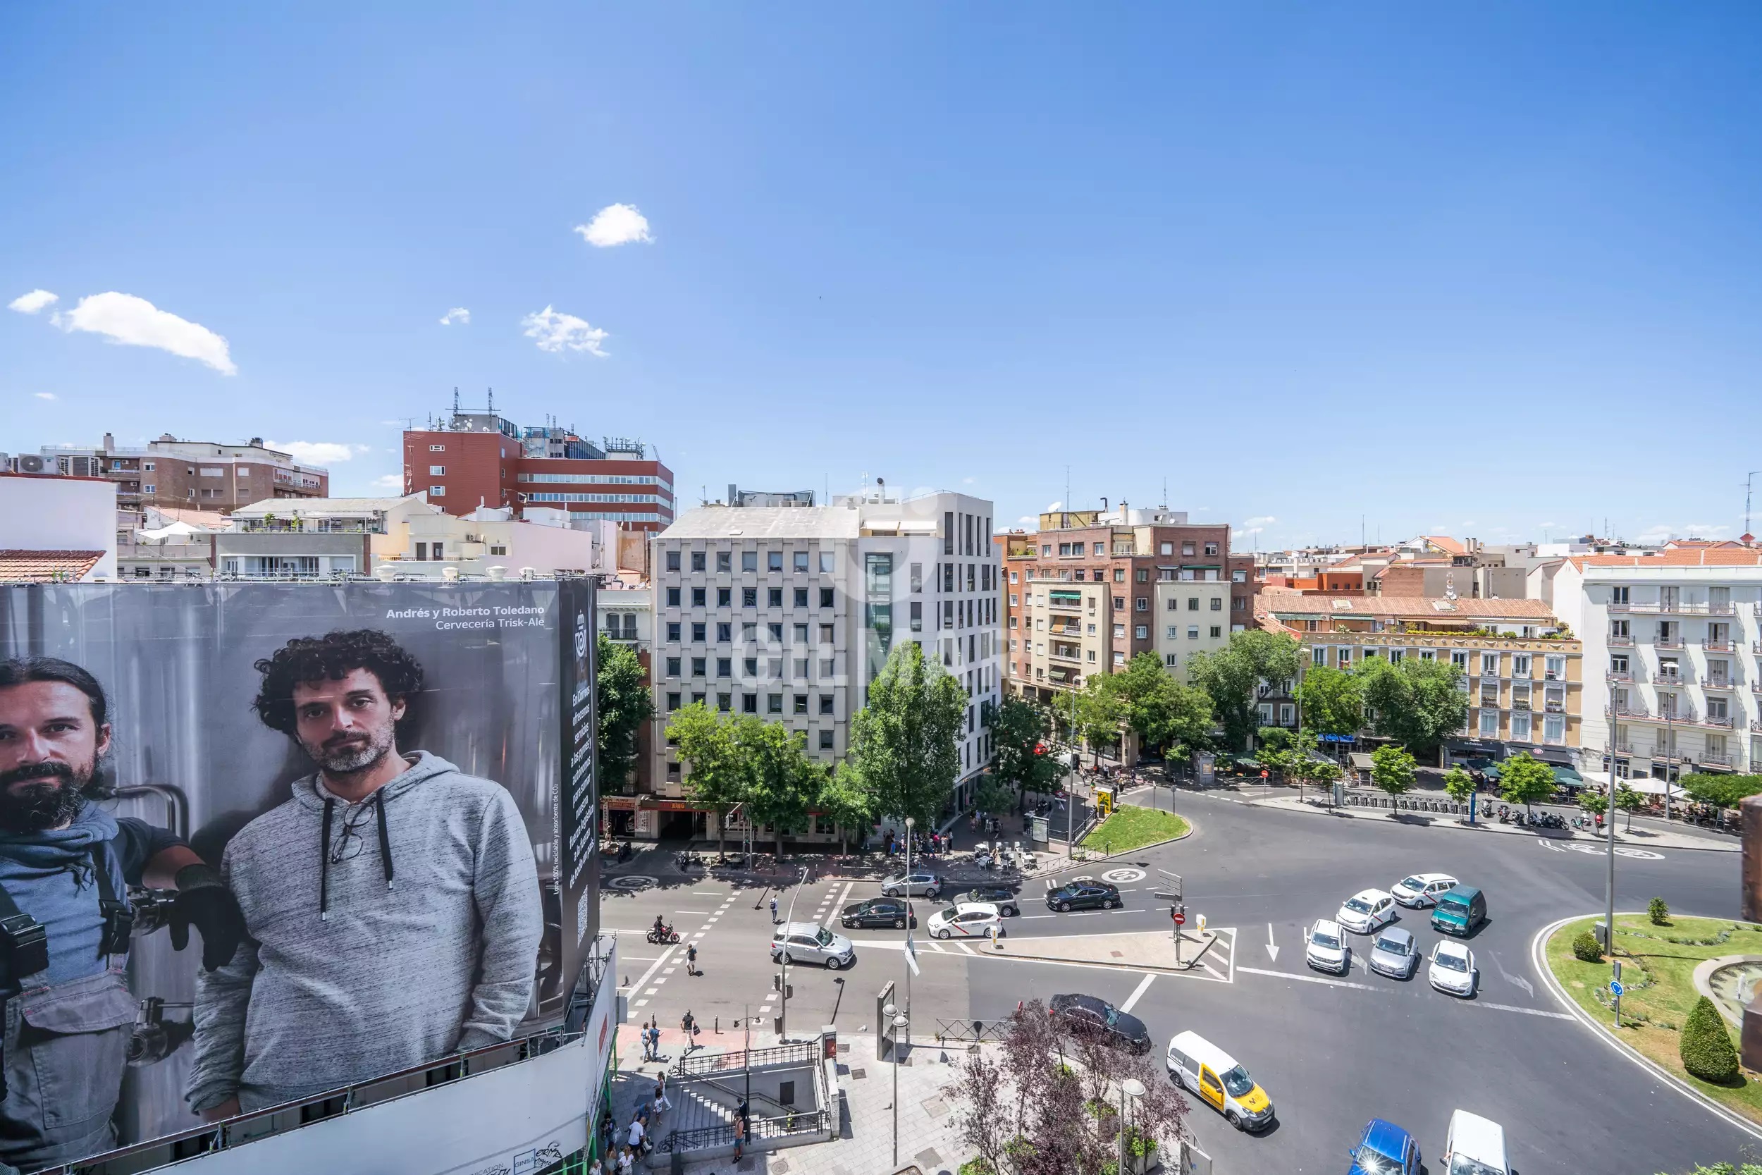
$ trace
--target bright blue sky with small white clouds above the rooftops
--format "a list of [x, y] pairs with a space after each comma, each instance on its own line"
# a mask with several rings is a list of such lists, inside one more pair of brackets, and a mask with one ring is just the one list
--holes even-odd
[[1757, 60], [1748, 4], [9, 4], [0, 303], [58, 301], [0, 312], [0, 449], [264, 435], [368, 493], [495, 388], [682, 504], [1008, 525], [1070, 467], [1242, 544], [1732, 536]]

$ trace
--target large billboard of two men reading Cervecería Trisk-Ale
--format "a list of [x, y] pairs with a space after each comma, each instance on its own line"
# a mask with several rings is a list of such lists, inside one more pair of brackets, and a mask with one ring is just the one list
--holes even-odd
[[571, 580], [0, 588], [0, 1161], [560, 1022], [592, 618]]

